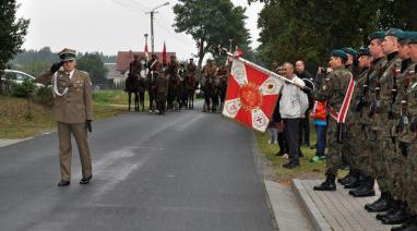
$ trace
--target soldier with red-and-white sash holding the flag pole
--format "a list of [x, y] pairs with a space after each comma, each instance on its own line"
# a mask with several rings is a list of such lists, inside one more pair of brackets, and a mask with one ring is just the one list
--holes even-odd
[[[333, 50], [329, 64], [332, 68], [332, 72], [324, 80], [323, 86], [311, 90], [310, 88], [302, 88], [302, 90], [310, 95], [311, 98], [319, 101], [326, 101], [329, 110], [333, 111], [334, 118], [329, 119], [327, 126], [327, 162], [326, 162], [326, 179], [320, 185], [314, 186], [314, 191], [335, 191], [335, 179], [337, 170], [342, 168], [342, 148], [344, 139], [344, 130], [348, 126], [344, 124], [345, 118], [341, 110], [344, 107], [345, 96], [349, 86], [352, 87], [353, 77], [352, 73], [345, 69], [347, 61], [347, 54], [342, 50]], [[346, 106], [345, 106], [346, 107]], [[349, 121], [349, 114], [346, 114], [346, 121]]]

